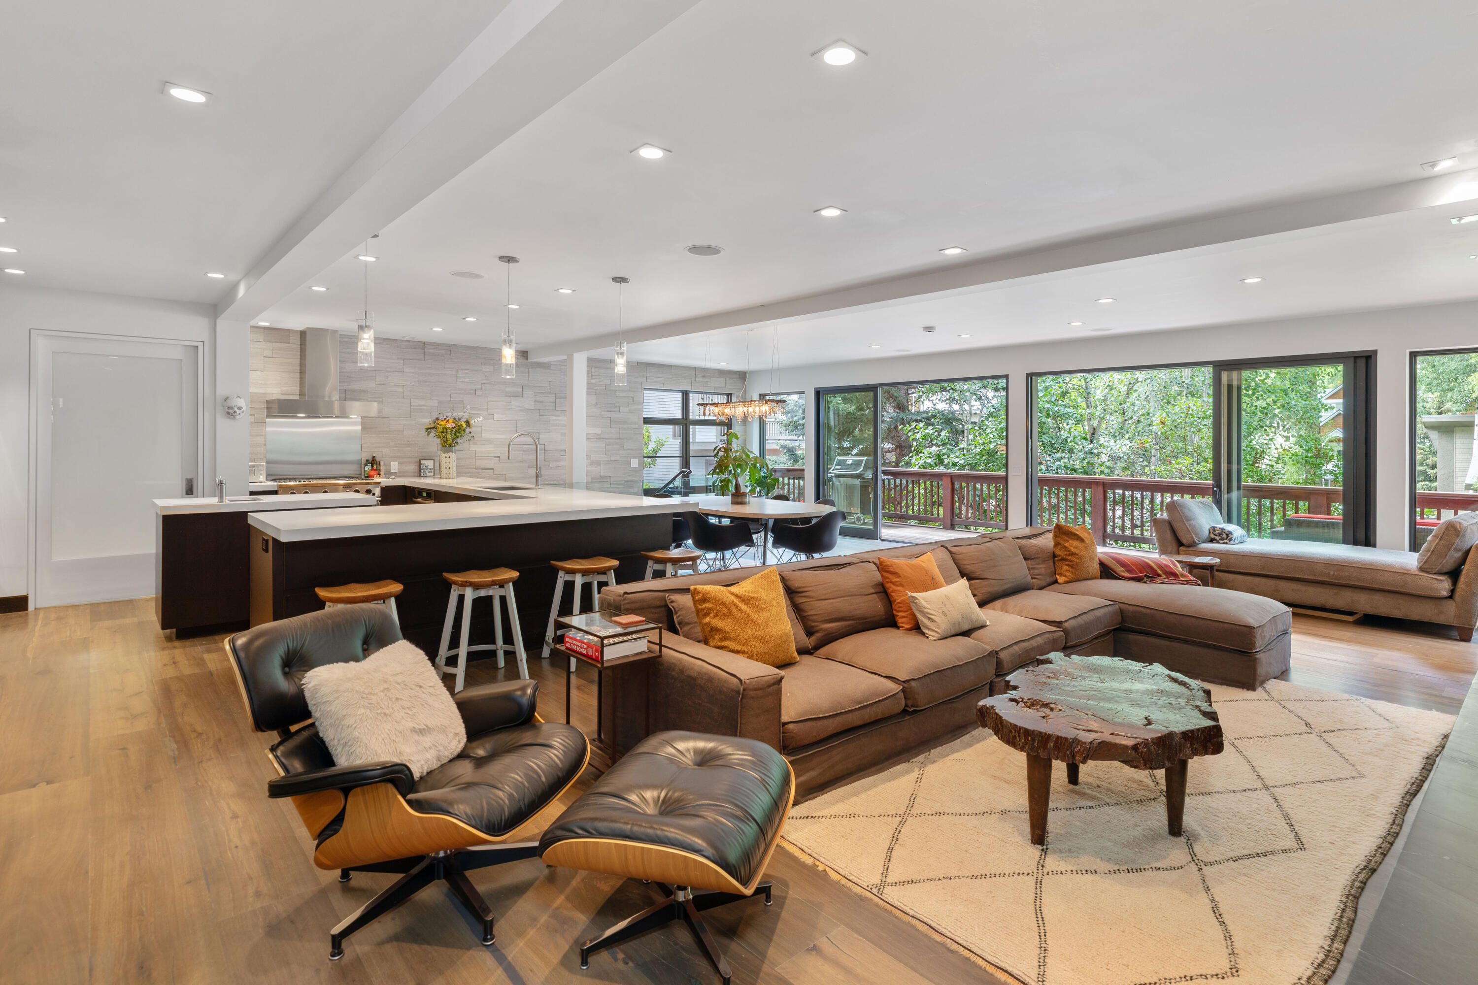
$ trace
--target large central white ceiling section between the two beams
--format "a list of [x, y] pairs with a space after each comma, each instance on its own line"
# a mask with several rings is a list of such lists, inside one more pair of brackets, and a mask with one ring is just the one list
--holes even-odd
[[[1450, 0], [1259, 1], [1236, 16], [1215, 4], [705, 0], [386, 227], [371, 307], [386, 334], [432, 338], [439, 325], [436, 338], [492, 344], [505, 315], [495, 257], [511, 253], [523, 260], [520, 347], [563, 343], [613, 326], [618, 273], [633, 281], [628, 328], [655, 325], [955, 263], [937, 253], [946, 245], [968, 247], [964, 263], [1411, 180], [1419, 162], [1453, 154], [1471, 167], [1478, 64], [1463, 38], [1475, 13]], [[837, 37], [869, 56], [841, 69], [810, 58]], [[643, 142], [674, 154], [628, 154]], [[831, 204], [850, 211], [811, 211]], [[726, 253], [687, 255], [695, 242]], [[1349, 242], [1377, 270], [1382, 245]], [[488, 278], [449, 276], [458, 269]], [[304, 286], [263, 319], [349, 328], [361, 276], [346, 257], [319, 278], [330, 292]], [[1391, 291], [1341, 282], [1312, 297], [1270, 281], [1256, 303], [1193, 291], [1153, 312], [1120, 306], [1114, 320], [1475, 294], [1451, 278], [1429, 294], [1377, 281]], [[1063, 285], [1023, 288], [1014, 312], [1032, 325], [1067, 306]], [[692, 343], [643, 356], [687, 362]]]

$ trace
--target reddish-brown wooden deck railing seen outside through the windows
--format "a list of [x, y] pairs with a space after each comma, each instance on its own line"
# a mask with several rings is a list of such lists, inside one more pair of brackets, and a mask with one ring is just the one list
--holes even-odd
[[[777, 468], [791, 499], [804, 496], [804, 470]], [[1007, 527], [1005, 473], [947, 473], [921, 468], [882, 470], [882, 518], [919, 523], [944, 530]], [[1038, 523], [1088, 527], [1104, 545], [1154, 548], [1154, 517], [1165, 515], [1171, 499], [1209, 499], [1210, 483], [1179, 478], [1125, 478], [1119, 476], [1038, 476]], [[1339, 515], [1339, 486], [1243, 486], [1239, 526], [1249, 536], [1267, 538], [1289, 514]], [[1417, 518], [1445, 518], [1460, 509], [1478, 509], [1478, 493], [1416, 495]]]

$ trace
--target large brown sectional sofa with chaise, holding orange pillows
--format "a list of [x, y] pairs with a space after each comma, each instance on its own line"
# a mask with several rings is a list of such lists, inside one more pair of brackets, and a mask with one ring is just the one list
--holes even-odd
[[[903, 762], [975, 725], [975, 704], [1017, 667], [1055, 651], [1126, 656], [1253, 688], [1289, 665], [1289, 610], [1213, 588], [1058, 585], [1041, 527], [777, 566], [800, 663], [770, 667], [701, 641], [687, 591], [758, 569], [602, 591], [602, 607], [665, 623], [661, 660], [612, 667], [615, 741], [668, 728], [757, 738], [779, 749], [810, 797]], [[989, 626], [931, 641], [893, 619], [876, 557], [931, 552], [947, 582], [967, 577]]]

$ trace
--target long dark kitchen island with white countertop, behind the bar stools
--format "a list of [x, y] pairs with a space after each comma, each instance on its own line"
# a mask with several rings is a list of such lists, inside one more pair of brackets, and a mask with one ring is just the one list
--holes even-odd
[[[381, 498], [395, 502], [387, 493], [396, 486], [455, 499], [251, 514], [251, 625], [322, 608], [318, 586], [392, 579], [405, 586], [396, 600], [402, 635], [435, 654], [449, 592], [442, 573], [510, 567], [520, 574], [525, 645], [537, 653], [554, 594], [550, 561], [605, 555], [621, 563], [618, 582], [638, 580], [641, 551], [668, 546], [672, 512], [683, 508], [674, 499], [486, 478], [387, 480]], [[492, 639], [491, 613], [486, 603], [474, 607], [473, 642]]]

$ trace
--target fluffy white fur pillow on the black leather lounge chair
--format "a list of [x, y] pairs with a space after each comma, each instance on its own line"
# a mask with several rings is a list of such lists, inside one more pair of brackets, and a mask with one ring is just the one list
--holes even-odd
[[303, 675], [303, 697], [334, 763], [403, 762], [420, 780], [467, 744], [467, 727], [426, 654], [405, 639], [358, 663]]

